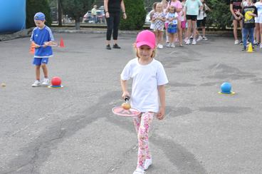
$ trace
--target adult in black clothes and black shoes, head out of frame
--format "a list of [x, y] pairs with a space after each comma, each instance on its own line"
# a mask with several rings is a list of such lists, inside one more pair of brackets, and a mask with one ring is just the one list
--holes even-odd
[[124, 0], [104, 0], [104, 8], [105, 8], [105, 19], [108, 25], [107, 31], [107, 49], [111, 49], [110, 40], [111, 35], [113, 39], [112, 48], [120, 48], [117, 45], [117, 36], [118, 36], [118, 26], [120, 24], [120, 12], [122, 9], [122, 15], [124, 19], [127, 19], [127, 15], [125, 14], [125, 4]]

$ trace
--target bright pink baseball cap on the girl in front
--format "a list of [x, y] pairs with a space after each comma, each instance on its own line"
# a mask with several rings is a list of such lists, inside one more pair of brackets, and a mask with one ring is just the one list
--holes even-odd
[[156, 46], [154, 33], [149, 30], [140, 31], [140, 33], [137, 34], [136, 45], [137, 47], [147, 45], [154, 49]]

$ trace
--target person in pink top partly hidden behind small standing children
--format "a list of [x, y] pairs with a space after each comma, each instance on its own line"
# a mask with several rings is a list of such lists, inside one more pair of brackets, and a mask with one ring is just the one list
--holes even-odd
[[182, 29], [181, 29], [181, 20], [182, 20], [182, 13], [183, 13], [182, 4], [179, 0], [171, 0], [171, 1], [169, 1], [167, 8], [169, 6], [174, 6], [176, 8], [176, 11], [177, 11], [177, 14], [178, 14], [178, 17], [177, 17], [178, 32], [177, 32], [177, 34], [178, 34], [178, 39], [179, 39], [179, 46], [183, 46], [182, 45]]

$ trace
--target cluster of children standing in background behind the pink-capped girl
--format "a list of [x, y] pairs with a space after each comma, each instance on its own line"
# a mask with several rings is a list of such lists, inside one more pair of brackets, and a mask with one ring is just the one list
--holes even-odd
[[[150, 11], [150, 29], [157, 38], [157, 48], [164, 48], [163, 36], [166, 35], [166, 46], [175, 47], [185, 44], [196, 44], [196, 41], [207, 40], [205, 36], [206, 11], [211, 11], [204, 0], [162, 0], [155, 2]], [[197, 28], [201, 27], [201, 36]], [[199, 36], [196, 39], [196, 36]]]

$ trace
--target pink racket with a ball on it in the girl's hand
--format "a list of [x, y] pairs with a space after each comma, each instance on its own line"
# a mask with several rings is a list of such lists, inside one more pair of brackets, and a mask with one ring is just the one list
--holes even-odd
[[[127, 103], [129, 100], [129, 97], [125, 98], [125, 102]], [[135, 108], [130, 108], [130, 109], [124, 109], [122, 106], [116, 106], [112, 108], [112, 113], [115, 113], [117, 116], [122, 116], [122, 117], [136, 117], [140, 115], [140, 111], [138, 111]]]

